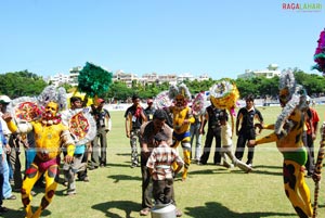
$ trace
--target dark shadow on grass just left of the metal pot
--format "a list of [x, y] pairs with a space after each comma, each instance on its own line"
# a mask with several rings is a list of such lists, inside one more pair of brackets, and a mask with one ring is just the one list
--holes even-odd
[[[141, 205], [130, 201], [114, 201], [96, 204], [91, 208], [105, 213], [106, 217], [109, 218], [131, 218], [131, 213], [138, 211], [139, 208], [141, 208]], [[125, 211], [125, 216], [120, 216], [118, 214], [109, 211], [110, 209], [122, 210]]]

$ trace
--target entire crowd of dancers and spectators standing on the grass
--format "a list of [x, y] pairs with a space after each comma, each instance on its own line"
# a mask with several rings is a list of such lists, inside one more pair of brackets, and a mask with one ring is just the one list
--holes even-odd
[[[280, 102], [284, 108], [290, 101], [289, 95], [289, 90], [285, 87], [280, 95]], [[288, 112], [284, 130], [274, 131], [262, 139], [257, 139], [260, 131], [274, 128], [276, 130], [276, 125], [264, 124], [262, 113], [255, 106], [251, 94], [246, 97], [246, 105], [238, 110], [235, 129], [232, 129], [229, 121], [230, 116], [234, 115], [225, 108], [219, 108], [212, 101], [204, 108], [204, 113], [197, 113], [191, 107], [191, 97], [186, 95], [186, 91], [177, 91], [171, 99], [172, 105], [164, 108], [156, 108], [154, 100], [148, 99], [147, 107], [144, 108], [141, 106], [141, 99], [134, 94], [132, 105], [125, 112], [126, 136], [130, 140], [131, 148], [131, 167], [141, 167], [142, 174], [141, 216], [148, 215], [155, 204], [176, 206], [172, 185], [176, 175], [183, 168], [182, 180], [185, 181], [192, 161], [197, 165], [208, 164], [213, 139], [216, 143], [213, 165], [226, 168], [236, 166], [245, 172], [253, 170], [256, 145], [276, 142], [277, 148], [284, 154], [284, 180], [291, 181], [287, 172], [297, 178], [295, 183], [285, 182], [288, 198], [300, 217], [312, 215], [309, 188], [304, 182], [302, 169], [307, 170], [306, 177], [314, 177], [314, 140], [320, 117], [317, 112], [309, 106], [309, 97], [306, 97], [303, 108], [296, 106], [294, 111]], [[15, 200], [16, 196], [12, 194], [12, 190], [21, 190], [26, 217], [41, 215], [51, 203], [57, 187], [61, 151], [63, 151], [64, 158], [63, 184], [67, 187], [67, 195], [77, 194], [76, 177], [80, 181], [89, 182], [88, 170], [95, 170], [107, 165], [106, 150], [107, 133], [112, 129], [110, 114], [104, 108], [105, 100], [96, 98], [91, 106], [87, 106], [87, 101], [80, 97], [72, 97], [70, 108], [61, 112], [63, 117], [57, 115], [62, 110], [61, 104], [49, 101], [40, 120], [30, 121], [27, 127], [21, 127], [6, 113], [11, 99], [6, 95], [0, 97], [0, 155], [2, 156], [0, 214], [8, 210], [2, 206], [2, 200]], [[67, 120], [64, 120], [80, 111], [89, 114], [95, 125], [94, 137], [82, 142], [74, 139], [74, 134], [67, 128]], [[207, 134], [202, 146], [206, 129]], [[234, 131], [237, 137], [235, 151], [233, 151]], [[46, 133], [51, 137], [47, 137]], [[183, 151], [182, 156], [179, 155], [180, 144]], [[247, 161], [244, 162], [243, 156], [247, 145], [248, 155]], [[22, 148], [25, 148], [26, 154], [24, 178], [21, 174], [20, 162]], [[291, 150], [288, 152], [287, 149]], [[320, 176], [314, 178], [320, 179]], [[153, 184], [153, 190], [150, 188], [151, 184]], [[30, 202], [36, 185], [46, 188], [46, 194], [39, 208], [34, 213]], [[176, 216], [182, 216], [182, 211], [176, 209]]]

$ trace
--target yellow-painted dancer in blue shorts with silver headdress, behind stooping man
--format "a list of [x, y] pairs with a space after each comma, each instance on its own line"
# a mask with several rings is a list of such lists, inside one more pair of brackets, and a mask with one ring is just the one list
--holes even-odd
[[182, 179], [187, 178], [187, 171], [191, 164], [191, 136], [190, 127], [195, 121], [191, 108], [187, 106], [187, 101], [191, 100], [191, 93], [184, 84], [169, 87], [169, 98], [174, 100], [174, 105], [169, 106], [168, 111], [172, 113], [172, 148], [178, 148], [181, 143], [183, 148], [184, 171]]

